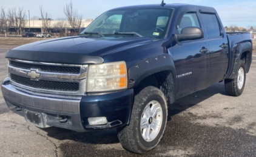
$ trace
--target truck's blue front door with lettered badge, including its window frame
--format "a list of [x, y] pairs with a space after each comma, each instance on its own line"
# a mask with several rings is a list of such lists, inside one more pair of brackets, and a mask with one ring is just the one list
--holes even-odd
[[[185, 10], [177, 22], [177, 33], [186, 27], [200, 27], [197, 10]], [[209, 48], [206, 39], [182, 41], [172, 46], [173, 60], [177, 72], [177, 98], [189, 95], [203, 88], [206, 73], [207, 52]]]

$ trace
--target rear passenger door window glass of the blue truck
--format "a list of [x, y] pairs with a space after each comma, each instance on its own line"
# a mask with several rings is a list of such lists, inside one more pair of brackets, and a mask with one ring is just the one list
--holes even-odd
[[201, 14], [209, 38], [221, 36], [220, 25], [214, 14]]

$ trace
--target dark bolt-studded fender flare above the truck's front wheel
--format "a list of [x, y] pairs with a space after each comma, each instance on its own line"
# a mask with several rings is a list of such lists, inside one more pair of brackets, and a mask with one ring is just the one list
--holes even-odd
[[[133, 64], [128, 70], [128, 88], [133, 88], [140, 84], [141, 80], [154, 73], [168, 70], [172, 73], [174, 85], [177, 82], [177, 75], [172, 56], [169, 54], [155, 56], [144, 59]], [[175, 87], [175, 89], [177, 89]]]

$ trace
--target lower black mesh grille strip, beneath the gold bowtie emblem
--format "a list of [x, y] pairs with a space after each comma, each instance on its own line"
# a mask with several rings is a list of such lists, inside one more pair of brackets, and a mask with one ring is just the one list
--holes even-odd
[[36, 89], [59, 90], [59, 91], [78, 91], [79, 83], [76, 82], [56, 82], [56, 81], [32, 81], [30, 78], [14, 75], [10, 73], [10, 79], [18, 84], [26, 85]]

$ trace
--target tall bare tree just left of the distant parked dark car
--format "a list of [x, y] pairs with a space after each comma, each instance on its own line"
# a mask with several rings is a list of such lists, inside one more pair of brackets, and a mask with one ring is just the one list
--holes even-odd
[[22, 28], [24, 28], [25, 26], [25, 20], [27, 19], [27, 16], [25, 15], [25, 10], [23, 10], [23, 7], [19, 7], [18, 12], [16, 12], [16, 8], [12, 8], [12, 13], [14, 16], [15, 30], [20, 35]]

